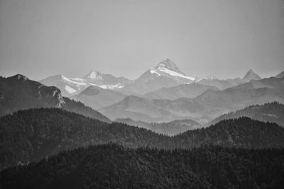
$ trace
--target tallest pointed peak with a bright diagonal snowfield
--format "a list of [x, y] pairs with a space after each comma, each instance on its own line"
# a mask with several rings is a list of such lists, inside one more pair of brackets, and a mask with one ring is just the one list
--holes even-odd
[[141, 95], [163, 87], [192, 83], [194, 80], [194, 77], [182, 73], [170, 59], [165, 59], [155, 67], [148, 69], [133, 83], [119, 88], [119, 91]]

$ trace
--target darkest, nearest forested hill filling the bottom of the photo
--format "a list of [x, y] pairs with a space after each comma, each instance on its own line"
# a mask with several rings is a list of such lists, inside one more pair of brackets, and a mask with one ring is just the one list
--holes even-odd
[[283, 188], [283, 149], [64, 151], [0, 173], [0, 188]]

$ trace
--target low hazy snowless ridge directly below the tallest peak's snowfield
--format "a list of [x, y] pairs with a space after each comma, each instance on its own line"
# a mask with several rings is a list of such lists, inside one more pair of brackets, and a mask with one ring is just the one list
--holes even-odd
[[169, 88], [160, 88], [156, 91], [150, 91], [143, 95], [145, 98], [155, 99], [169, 99], [175, 100], [178, 98], [195, 98], [200, 96], [208, 89], [218, 90], [215, 86], [207, 86], [198, 83], [181, 84], [178, 86], [172, 86]]

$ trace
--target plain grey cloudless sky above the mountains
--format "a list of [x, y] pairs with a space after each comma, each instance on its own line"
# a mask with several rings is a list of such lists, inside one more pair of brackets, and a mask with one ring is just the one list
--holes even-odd
[[284, 1], [0, 0], [1, 76], [136, 79], [166, 58], [188, 76], [278, 74]]

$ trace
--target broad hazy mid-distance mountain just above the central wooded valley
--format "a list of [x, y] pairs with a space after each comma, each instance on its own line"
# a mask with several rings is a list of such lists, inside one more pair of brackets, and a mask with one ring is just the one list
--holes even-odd
[[204, 110], [203, 105], [190, 98], [171, 101], [127, 96], [119, 103], [99, 109], [99, 112], [107, 115], [111, 120], [131, 118], [143, 122], [170, 122], [191, 119], [203, 123], [207, 122], [207, 119], [202, 120], [200, 115], [202, 110]]

